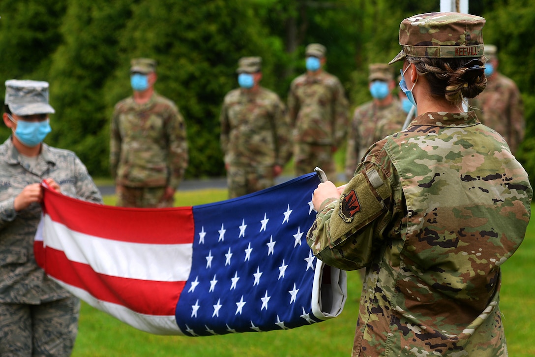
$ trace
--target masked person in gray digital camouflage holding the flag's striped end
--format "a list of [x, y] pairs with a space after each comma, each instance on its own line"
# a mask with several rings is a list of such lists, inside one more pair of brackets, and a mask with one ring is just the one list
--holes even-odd
[[42, 142], [54, 113], [48, 83], [12, 79], [5, 86], [3, 120], [13, 135], [0, 145], [0, 355], [68, 356], [80, 301], [35, 262], [41, 182], [90, 202], [102, 197], [73, 152]]

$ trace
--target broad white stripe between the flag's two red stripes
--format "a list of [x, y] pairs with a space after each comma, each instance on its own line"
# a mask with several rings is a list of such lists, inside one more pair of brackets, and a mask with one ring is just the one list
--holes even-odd
[[49, 215], [44, 220], [46, 246], [64, 251], [70, 261], [90, 265], [97, 273], [140, 280], [188, 280], [192, 244], [121, 242], [73, 232]]

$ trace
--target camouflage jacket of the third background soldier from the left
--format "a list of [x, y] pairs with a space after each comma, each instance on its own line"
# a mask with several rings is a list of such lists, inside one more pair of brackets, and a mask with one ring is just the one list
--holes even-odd
[[296, 143], [340, 146], [346, 137], [348, 102], [340, 80], [327, 72], [295, 78], [288, 110]]

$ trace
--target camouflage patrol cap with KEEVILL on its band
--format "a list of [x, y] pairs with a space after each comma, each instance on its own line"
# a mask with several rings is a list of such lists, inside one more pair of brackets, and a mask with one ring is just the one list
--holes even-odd
[[485, 19], [460, 12], [430, 12], [400, 24], [401, 52], [388, 64], [409, 57], [475, 58], [483, 56]]

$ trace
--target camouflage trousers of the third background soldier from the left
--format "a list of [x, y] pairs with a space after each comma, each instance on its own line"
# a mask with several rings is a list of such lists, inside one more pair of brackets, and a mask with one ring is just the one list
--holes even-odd
[[314, 172], [314, 168], [317, 166], [325, 171], [328, 180], [337, 181], [336, 165], [331, 145], [295, 143], [294, 165], [296, 176]]

